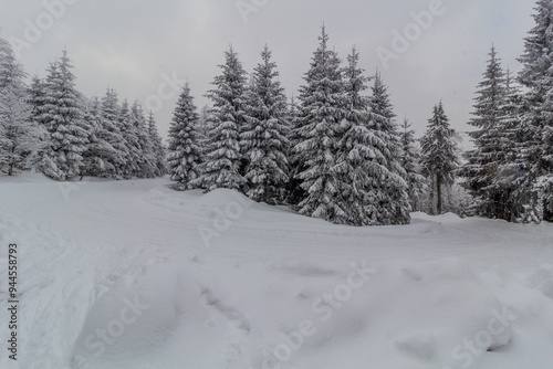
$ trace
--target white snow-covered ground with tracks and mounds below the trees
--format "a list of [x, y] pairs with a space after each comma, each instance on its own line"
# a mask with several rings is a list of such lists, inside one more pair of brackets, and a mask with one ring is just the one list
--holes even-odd
[[356, 229], [168, 184], [0, 178], [0, 368], [553, 367], [553, 224]]

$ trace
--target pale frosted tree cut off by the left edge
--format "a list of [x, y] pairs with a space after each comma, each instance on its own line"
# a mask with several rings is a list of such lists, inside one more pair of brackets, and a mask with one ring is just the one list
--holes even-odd
[[28, 169], [40, 151], [40, 128], [31, 117], [25, 72], [8, 42], [0, 39], [0, 170]]

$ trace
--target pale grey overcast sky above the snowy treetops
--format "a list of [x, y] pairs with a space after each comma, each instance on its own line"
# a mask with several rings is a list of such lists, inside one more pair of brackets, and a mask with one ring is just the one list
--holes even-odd
[[[267, 43], [286, 94], [296, 95], [324, 22], [343, 60], [356, 45], [367, 74], [382, 71], [396, 114], [407, 115], [420, 136], [440, 99], [453, 127], [470, 129], [466, 122], [492, 42], [503, 65], [519, 71], [534, 6], [534, 0], [0, 0], [0, 36], [15, 41], [31, 75], [44, 76], [48, 63], [66, 48], [81, 92], [95, 96], [113, 87], [119, 97], [140, 101], [155, 109], [166, 136], [179, 93], [166, 80], [188, 81], [201, 107], [230, 44], [251, 72]], [[421, 17], [420, 27], [414, 13], [434, 15]], [[397, 41], [406, 32], [408, 44]]]

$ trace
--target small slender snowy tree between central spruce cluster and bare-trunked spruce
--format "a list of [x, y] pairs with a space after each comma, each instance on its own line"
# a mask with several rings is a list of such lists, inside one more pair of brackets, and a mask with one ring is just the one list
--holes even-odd
[[407, 118], [401, 125], [401, 159], [400, 164], [406, 172], [407, 193], [413, 211], [420, 210], [420, 200], [428, 191], [425, 176], [421, 175], [421, 156], [415, 140], [415, 131], [410, 129], [411, 124]]

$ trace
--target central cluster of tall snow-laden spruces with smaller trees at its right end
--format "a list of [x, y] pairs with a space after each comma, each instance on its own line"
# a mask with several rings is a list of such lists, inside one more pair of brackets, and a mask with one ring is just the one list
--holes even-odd
[[[343, 65], [324, 28], [319, 41], [298, 101], [288, 103], [267, 46], [250, 77], [232, 48], [225, 53], [201, 115], [185, 86], [169, 131], [170, 178], [181, 190], [233, 189], [340, 224], [409, 223], [427, 177], [437, 191], [453, 179], [455, 165], [437, 160], [458, 155], [442, 105], [421, 159], [408, 122], [403, 130], [395, 123], [382, 76], [365, 75], [355, 48]], [[444, 144], [450, 156], [436, 154]]]

